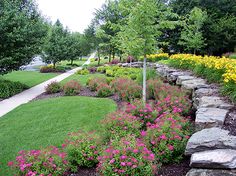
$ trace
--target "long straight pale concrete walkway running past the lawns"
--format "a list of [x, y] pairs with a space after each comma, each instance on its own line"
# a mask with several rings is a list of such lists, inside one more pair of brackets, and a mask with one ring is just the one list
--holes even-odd
[[[90, 59], [94, 58], [94, 57], [95, 57], [95, 53], [93, 53], [84, 64], [86, 64], [86, 65], [90, 64]], [[63, 79], [73, 75], [75, 72], [77, 72], [78, 70], [81, 70], [81, 69], [82, 69], [82, 67], [77, 67], [73, 70], [70, 70], [66, 73], [63, 73], [59, 76], [49, 79], [37, 86], [27, 89], [17, 95], [14, 95], [6, 100], [1, 101], [0, 102], [0, 117], [2, 117], [3, 115], [7, 114], [10, 111], [12, 111], [16, 107], [18, 107], [24, 103], [28, 103], [29, 101], [36, 98], [38, 95], [44, 93], [45, 86], [47, 86], [49, 83], [51, 83], [53, 81], [60, 82]]]

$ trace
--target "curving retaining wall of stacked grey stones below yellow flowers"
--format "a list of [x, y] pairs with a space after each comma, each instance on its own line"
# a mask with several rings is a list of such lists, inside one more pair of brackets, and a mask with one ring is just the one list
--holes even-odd
[[[141, 63], [132, 64], [135, 67]], [[131, 66], [123, 65], [123, 66]], [[192, 169], [186, 176], [236, 176], [236, 136], [222, 129], [232, 104], [219, 95], [219, 88], [206, 80], [162, 64], [152, 65], [161, 77], [192, 93], [196, 110], [195, 133], [189, 139], [185, 154], [191, 156]]]

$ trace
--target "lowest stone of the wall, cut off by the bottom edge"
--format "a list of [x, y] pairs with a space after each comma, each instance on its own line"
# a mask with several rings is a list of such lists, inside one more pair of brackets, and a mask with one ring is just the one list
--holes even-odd
[[191, 169], [186, 176], [236, 176], [236, 171], [219, 169]]

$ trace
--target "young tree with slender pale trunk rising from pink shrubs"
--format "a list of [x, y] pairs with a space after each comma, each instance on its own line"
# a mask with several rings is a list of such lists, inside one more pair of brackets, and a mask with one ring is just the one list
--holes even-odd
[[127, 24], [121, 26], [120, 43], [124, 52], [144, 56], [143, 63], [143, 101], [146, 102], [146, 55], [156, 49], [157, 3], [155, 0], [138, 0], [131, 8]]

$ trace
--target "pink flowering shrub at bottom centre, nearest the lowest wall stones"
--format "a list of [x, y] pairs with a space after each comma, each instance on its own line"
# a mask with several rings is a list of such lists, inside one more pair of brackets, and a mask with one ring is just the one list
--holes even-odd
[[152, 176], [157, 170], [155, 155], [135, 136], [111, 141], [99, 157], [97, 170], [100, 175]]

